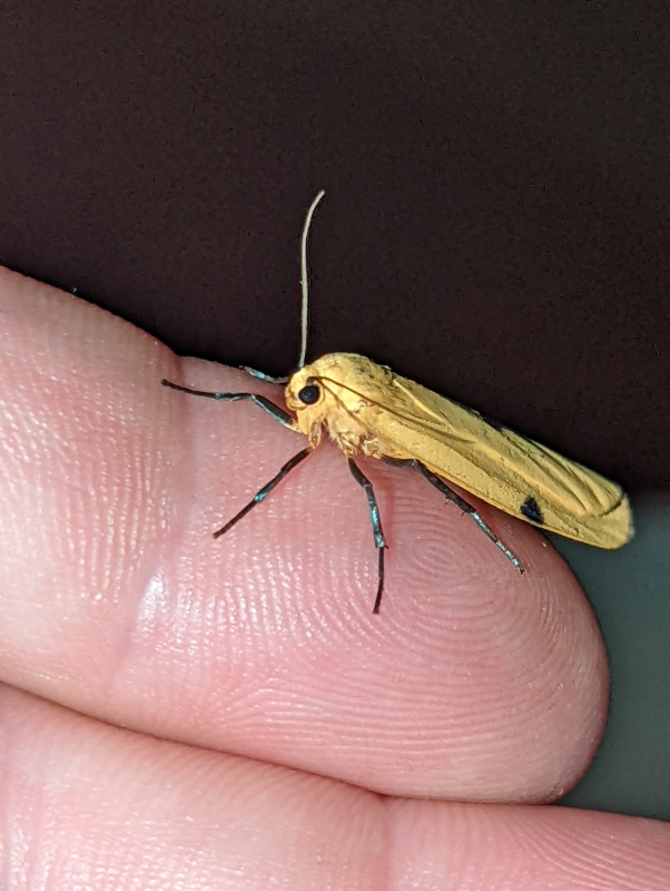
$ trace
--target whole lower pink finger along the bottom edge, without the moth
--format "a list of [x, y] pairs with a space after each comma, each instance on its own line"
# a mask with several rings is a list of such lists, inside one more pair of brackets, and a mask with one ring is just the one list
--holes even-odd
[[8, 891], [667, 891], [670, 826], [391, 800], [0, 686]]

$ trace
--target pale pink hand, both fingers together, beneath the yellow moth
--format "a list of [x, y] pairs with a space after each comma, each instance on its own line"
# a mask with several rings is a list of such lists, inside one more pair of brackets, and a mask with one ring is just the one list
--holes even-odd
[[608, 678], [535, 530], [479, 506], [520, 576], [417, 473], [361, 461], [373, 616], [342, 454], [215, 541], [304, 439], [160, 380], [280, 388], [7, 271], [0, 325], [3, 888], [667, 889], [667, 825], [546, 804]]

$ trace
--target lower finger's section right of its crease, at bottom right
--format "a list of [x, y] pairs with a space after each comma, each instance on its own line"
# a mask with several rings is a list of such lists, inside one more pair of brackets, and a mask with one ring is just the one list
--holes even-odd
[[388, 802], [402, 891], [661, 891], [670, 826], [571, 807]]

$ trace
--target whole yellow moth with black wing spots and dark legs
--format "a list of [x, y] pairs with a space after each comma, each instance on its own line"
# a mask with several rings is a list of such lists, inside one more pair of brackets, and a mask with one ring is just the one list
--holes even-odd
[[[581, 464], [562, 458], [473, 409], [437, 395], [385, 365], [354, 353], [328, 353], [305, 364], [307, 351], [307, 234], [321, 192], [305, 219], [300, 239], [302, 324], [297, 371], [266, 381], [285, 383], [284, 408], [256, 393], [209, 393], [162, 381], [174, 390], [236, 402], [250, 400], [275, 420], [307, 437], [307, 446], [266, 483], [214, 537], [227, 532], [263, 501], [318, 446], [324, 431], [344, 452], [352, 474], [367, 497], [378, 552], [378, 613], [387, 548], [371, 481], [354, 460], [362, 453], [416, 468], [449, 500], [469, 513], [505, 557], [523, 567], [483, 521], [476, 509], [447, 484], [456, 483], [489, 505], [525, 522], [599, 548], [619, 548], [632, 536], [628, 498], [619, 486]], [[288, 412], [293, 412], [289, 414]]]

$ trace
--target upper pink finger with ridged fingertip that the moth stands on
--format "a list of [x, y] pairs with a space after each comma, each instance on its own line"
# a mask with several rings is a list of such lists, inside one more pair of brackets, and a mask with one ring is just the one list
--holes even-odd
[[481, 513], [520, 576], [420, 474], [375, 461], [390, 541], [324, 443], [225, 537], [304, 439], [276, 386], [179, 361], [128, 323], [4, 271], [0, 676], [89, 715], [380, 792], [548, 801], [602, 734], [607, 663], [560, 557]]

